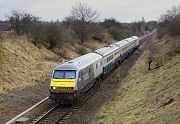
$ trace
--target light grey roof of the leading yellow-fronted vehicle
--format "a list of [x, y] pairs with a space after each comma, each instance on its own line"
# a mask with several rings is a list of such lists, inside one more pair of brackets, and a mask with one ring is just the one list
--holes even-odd
[[101, 55], [88, 53], [56, 67], [55, 70], [81, 70], [100, 59], [102, 59]]

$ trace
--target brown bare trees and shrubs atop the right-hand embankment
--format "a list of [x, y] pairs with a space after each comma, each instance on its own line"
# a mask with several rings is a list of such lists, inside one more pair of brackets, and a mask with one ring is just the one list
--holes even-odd
[[[166, 14], [161, 15], [158, 38], [151, 43], [148, 52], [148, 70], [153, 63], [154, 68], [158, 68], [174, 55], [179, 54], [180, 41], [180, 6], [173, 6]], [[159, 42], [163, 41], [163, 42]]]

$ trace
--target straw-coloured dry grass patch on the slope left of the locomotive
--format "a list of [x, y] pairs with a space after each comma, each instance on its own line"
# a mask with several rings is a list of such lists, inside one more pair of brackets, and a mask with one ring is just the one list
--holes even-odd
[[0, 94], [43, 82], [57, 64], [54, 53], [35, 47], [25, 37], [5, 37], [0, 44]]

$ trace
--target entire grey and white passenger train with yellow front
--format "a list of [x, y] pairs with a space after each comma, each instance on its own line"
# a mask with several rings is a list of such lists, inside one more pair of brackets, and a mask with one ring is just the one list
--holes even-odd
[[81, 101], [138, 46], [139, 38], [131, 36], [57, 66], [52, 72], [49, 98], [61, 104]]

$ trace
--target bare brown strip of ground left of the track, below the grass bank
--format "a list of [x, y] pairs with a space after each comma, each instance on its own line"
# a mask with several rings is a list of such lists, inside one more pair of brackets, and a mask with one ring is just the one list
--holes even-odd
[[5, 96], [0, 96], [4, 102], [0, 112], [0, 124], [5, 123], [22, 111], [30, 108], [43, 98], [48, 96], [49, 81], [40, 83], [34, 88], [26, 88], [23, 91], [15, 91]]

